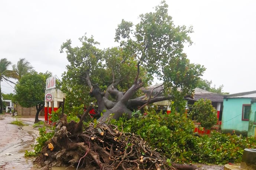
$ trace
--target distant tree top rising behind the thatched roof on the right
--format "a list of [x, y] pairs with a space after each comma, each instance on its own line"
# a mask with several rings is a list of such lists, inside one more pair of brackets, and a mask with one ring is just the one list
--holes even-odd
[[213, 93], [223, 95], [229, 94], [228, 92], [222, 92], [224, 85], [220, 85], [218, 88], [216, 88], [215, 84], [212, 86], [212, 81], [204, 80], [202, 78], [200, 78], [200, 80], [198, 81], [197, 87]]

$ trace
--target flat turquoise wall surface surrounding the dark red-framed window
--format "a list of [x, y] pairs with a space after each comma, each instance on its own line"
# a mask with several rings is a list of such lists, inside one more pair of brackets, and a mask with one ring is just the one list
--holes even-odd
[[247, 135], [249, 121], [242, 121], [243, 104], [251, 104], [250, 98], [224, 98], [221, 131]]

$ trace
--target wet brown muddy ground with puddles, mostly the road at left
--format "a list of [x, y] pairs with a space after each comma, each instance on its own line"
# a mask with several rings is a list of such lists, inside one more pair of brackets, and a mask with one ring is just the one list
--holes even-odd
[[[32, 127], [34, 116], [18, 117], [27, 126], [22, 128], [11, 125], [16, 120], [12, 115], [0, 115], [0, 170], [38, 170], [33, 167], [35, 157], [24, 157], [25, 150], [31, 147], [38, 136], [38, 130]], [[39, 117], [44, 120], [43, 117]], [[199, 170], [223, 170], [224, 166], [197, 164]], [[64, 168], [65, 169], [65, 168]], [[54, 170], [54, 169], [52, 169]]]

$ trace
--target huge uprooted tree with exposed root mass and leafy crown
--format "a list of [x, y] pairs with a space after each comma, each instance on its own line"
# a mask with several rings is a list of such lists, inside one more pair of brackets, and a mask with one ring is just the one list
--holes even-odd
[[[70, 62], [61, 84], [66, 93], [65, 113], [84, 105], [89, 108], [78, 123], [68, 123], [62, 114], [55, 135], [37, 162], [46, 168], [81, 164], [107, 170], [171, 168], [167, 159], [140, 136], [122, 132], [106, 121], [119, 119], [124, 113], [130, 118], [134, 110], [158, 101], [177, 104], [196, 87], [205, 69], [190, 63], [183, 52], [184, 44], [192, 43], [188, 36], [192, 29], [175, 27], [167, 7], [163, 1], [155, 12], [141, 14], [137, 25], [122, 20], [115, 36], [119, 47], [101, 50], [93, 37], [86, 36], [79, 39], [82, 47], [72, 47], [70, 40], [63, 43], [61, 52], [66, 52]], [[150, 85], [153, 77], [164, 82], [164, 89], [144, 95], [140, 89]], [[98, 121], [84, 127], [91, 102], [95, 103]], [[182, 169], [182, 165], [175, 167]]]

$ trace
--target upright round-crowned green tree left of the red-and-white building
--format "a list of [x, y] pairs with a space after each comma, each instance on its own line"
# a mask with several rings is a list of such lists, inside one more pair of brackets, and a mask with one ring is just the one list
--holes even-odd
[[39, 112], [45, 105], [45, 84], [46, 79], [51, 75], [50, 72], [32, 71], [23, 75], [15, 86], [15, 101], [25, 108], [36, 107], [35, 123], [39, 122]]

